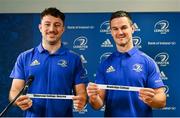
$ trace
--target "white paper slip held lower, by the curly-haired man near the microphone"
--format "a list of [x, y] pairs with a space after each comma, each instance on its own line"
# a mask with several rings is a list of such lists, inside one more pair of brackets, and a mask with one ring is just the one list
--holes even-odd
[[60, 95], [60, 94], [26, 94], [30, 98], [41, 99], [72, 99], [74, 95]]

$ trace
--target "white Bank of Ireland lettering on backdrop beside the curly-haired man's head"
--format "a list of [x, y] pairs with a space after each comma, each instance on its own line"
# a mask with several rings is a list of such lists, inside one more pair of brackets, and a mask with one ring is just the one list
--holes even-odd
[[94, 29], [95, 26], [78, 26], [78, 25], [68, 25], [67, 26], [67, 29], [68, 30], [92, 30]]

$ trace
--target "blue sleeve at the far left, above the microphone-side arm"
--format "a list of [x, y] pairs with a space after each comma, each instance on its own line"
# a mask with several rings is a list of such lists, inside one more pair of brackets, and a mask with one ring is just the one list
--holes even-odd
[[20, 54], [16, 60], [16, 63], [13, 67], [13, 70], [10, 74], [10, 78], [18, 78], [18, 79], [24, 79], [25, 73], [24, 73], [24, 65], [23, 65], [23, 55]]

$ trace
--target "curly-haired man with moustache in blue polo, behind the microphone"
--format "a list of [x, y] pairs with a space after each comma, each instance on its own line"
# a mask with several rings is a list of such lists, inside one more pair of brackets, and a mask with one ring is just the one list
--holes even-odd
[[31, 99], [21, 95], [15, 104], [26, 110], [26, 117], [72, 116], [72, 107], [82, 110], [86, 104], [87, 75], [80, 57], [62, 45], [65, 15], [56, 8], [41, 13], [39, 30], [42, 43], [21, 53], [10, 77], [14, 78], [9, 94], [12, 100], [24, 87], [30, 75], [35, 77], [28, 89], [30, 94], [72, 95], [72, 100]]

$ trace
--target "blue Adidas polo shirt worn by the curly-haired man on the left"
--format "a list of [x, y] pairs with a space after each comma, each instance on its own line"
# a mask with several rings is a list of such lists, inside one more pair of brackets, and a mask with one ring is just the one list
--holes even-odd
[[[74, 86], [87, 83], [87, 75], [80, 57], [62, 45], [54, 54], [49, 54], [40, 44], [21, 53], [11, 72], [11, 78], [35, 79], [28, 93], [72, 95]], [[72, 100], [33, 99], [26, 117], [72, 116]]]

